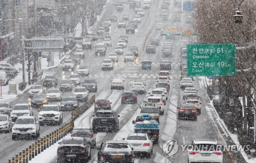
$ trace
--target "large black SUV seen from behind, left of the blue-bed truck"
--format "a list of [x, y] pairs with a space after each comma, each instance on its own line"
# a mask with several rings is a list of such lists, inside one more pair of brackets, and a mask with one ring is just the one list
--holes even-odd
[[97, 133], [99, 129], [105, 131], [118, 131], [120, 115], [114, 110], [98, 110], [92, 119], [92, 131]]

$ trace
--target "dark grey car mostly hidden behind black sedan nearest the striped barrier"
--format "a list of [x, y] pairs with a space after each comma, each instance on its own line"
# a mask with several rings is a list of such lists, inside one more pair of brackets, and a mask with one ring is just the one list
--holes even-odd
[[92, 148], [96, 147], [96, 135], [92, 132], [91, 129], [79, 128], [73, 129], [71, 133], [71, 137], [83, 137], [85, 138], [91, 145]]

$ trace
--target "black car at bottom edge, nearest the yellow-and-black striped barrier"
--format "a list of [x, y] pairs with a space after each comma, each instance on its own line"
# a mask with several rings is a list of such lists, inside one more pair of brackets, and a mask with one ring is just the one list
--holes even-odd
[[91, 146], [85, 138], [66, 136], [58, 144], [57, 163], [87, 162], [91, 159]]

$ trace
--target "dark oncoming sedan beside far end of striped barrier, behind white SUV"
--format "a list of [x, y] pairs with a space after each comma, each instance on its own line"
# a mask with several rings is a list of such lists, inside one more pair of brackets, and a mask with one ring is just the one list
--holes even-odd
[[76, 97], [64, 97], [60, 104], [61, 110], [76, 110], [79, 107], [79, 103]]

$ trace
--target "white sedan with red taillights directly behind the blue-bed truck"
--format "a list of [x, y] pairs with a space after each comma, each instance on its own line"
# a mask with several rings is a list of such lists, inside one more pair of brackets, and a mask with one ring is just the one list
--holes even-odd
[[123, 140], [133, 147], [133, 152], [145, 153], [147, 158], [152, 155], [153, 143], [146, 133], [130, 133]]

